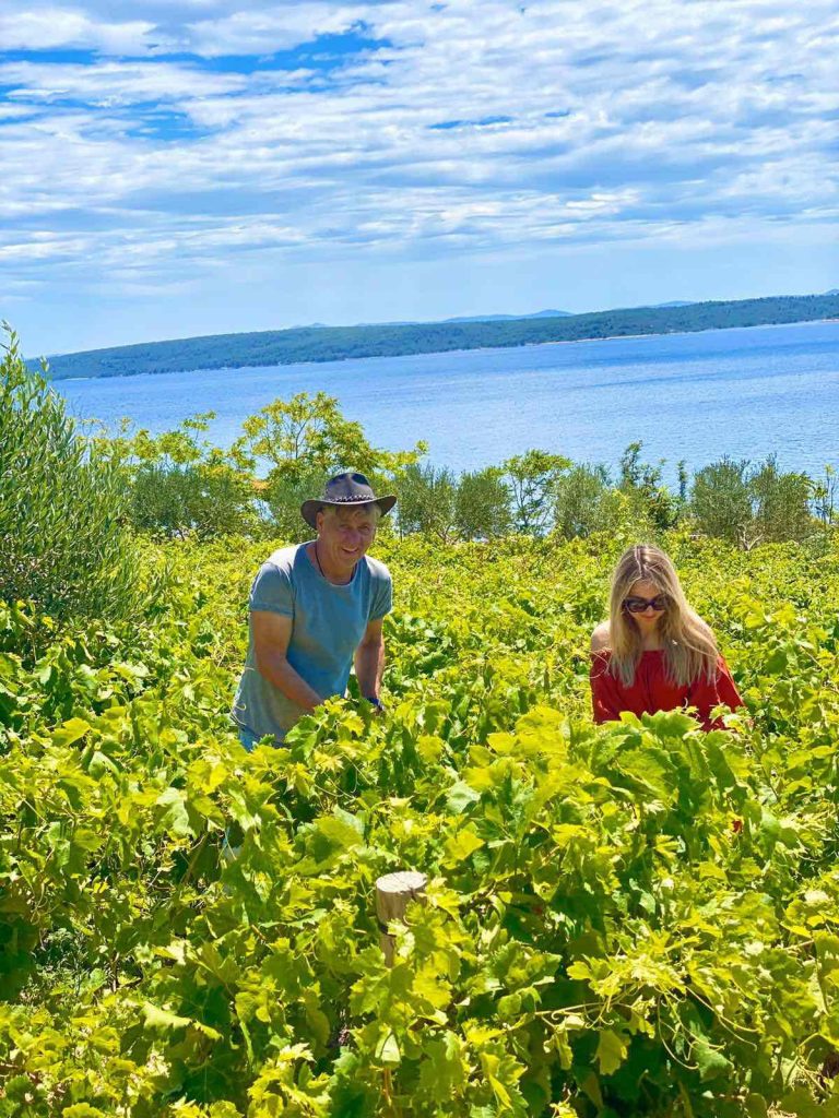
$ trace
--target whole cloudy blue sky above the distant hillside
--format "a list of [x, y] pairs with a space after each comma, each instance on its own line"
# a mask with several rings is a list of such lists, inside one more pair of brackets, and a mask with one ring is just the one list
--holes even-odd
[[0, 0], [29, 354], [839, 287], [839, 0]]

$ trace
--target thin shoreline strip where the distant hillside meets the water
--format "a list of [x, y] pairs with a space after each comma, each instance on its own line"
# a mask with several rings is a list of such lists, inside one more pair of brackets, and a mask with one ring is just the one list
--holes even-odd
[[[716, 333], [728, 333], [733, 330], [767, 330], [767, 329], [781, 329], [788, 326], [818, 326], [828, 325], [831, 323], [839, 323], [839, 316], [827, 318], [827, 319], [801, 319], [795, 322], [757, 322], [748, 326], [704, 326], [697, 330], [663, 330], [663, 331], [650, 331], [643, 333], [633, 334], [603, 334], [594, 335], [592, 338], [557, 338], [552, 341], [534, 341], [534, 342], [519, 342], [511, 345], [469, 345], [461, 347], [458, 349], [441, 349], [441, 350], [408, 350], [404, 353], [373, 353], [368, 357], [331, 357], [323, 360], [312, 359], [309, 361], [281, 361], [272, 362], [270, 364], [216, 364], [216, 366], [194, 366], [189, 369], [161, 369], [155, 372], [112, 372], [98, 376], [65, 376], [65, 377], [49, 377], [48, 382], [50, 386], [59, 385], [62, 381], [93, 381], [93, 380], [123, 380], [133, 379], [135, 377], [169, 377], [179, 376], [185, 373], [194, 372], [235, 372], [241, 369], [284, 369], [302, 366], [322, 366], [322, 364], [340, 364], [347, 361], [395, 361], [400, 358], [406, 357], [440, 357], [446, 353], [459, 354], [459, 353], [486, 353], [486, 352], [502, 352], [505, 350], [515, 349], [534, 349], [540, 348], [543, 345], [586, 345], [592, 342], [613, 342], [613, 341], [637, 341], [641, 338], [677, 338], [677, 337], [689, 337], [692, 334], [716, 334]], [[189, 340], [189, 339], [186, 339]], [[160, 344], [158, 342], [149, 342], [148, 344]], [[95, 352], [95, 351], [94, 351]], [[56, 357], [69, 356], [69, 354], [55, 354]], [[38, 360], [37, 358], [27, 358], [28, 361]], [[47, 359], [48, 361], [49, 359]]]

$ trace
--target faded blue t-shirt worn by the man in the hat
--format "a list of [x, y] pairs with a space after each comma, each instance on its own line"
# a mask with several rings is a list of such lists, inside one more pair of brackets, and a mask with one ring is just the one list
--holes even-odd
[[[262, 565], [251, 587], [248, 608], [292, 618], [286, 660], [321, 699], [328, 699], [346, 692], [368, 623], [390, 612], [393, 582], [383, 562], [364, 556], [350, 581], [336, 586], [320, 574], [305, 549], [305, 543], [281, 548]], [[305, 711], [260, 674], [249, 618], [248, 631], [233, 718], [257, 738], [270, 733], [282, 741]]]

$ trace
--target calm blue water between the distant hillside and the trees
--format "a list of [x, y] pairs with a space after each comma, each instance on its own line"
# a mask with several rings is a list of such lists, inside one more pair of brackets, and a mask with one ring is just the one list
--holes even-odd
[[428, 443], [455, 470], [539, 447], [615, 464], [641, 439], [648, 461], [698, 467], [776, 453], [788, 468], [839, 464], [839, 322], [715, 330], [328, 364], [64, 380], [78, 417], [130, 416], [152, 433], [216, 411], [228, 446], [275, 397], [326, 391], [389, 449]]

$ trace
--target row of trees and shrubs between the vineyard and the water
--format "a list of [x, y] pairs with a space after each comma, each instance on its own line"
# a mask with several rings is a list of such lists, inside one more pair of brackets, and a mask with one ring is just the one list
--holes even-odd
[[[750, 548], [804, 540], [818, 523], [829, 529], [835, 519], [831, 471], [817, 484], [807, 474], [780, 471], [774, 458], [757, 466], [723, 458], [695, 475], [688, 496], [685, 463], [678, 464], [673, 492], [663, 480], [666, 463], [643, 462], [640, 442], [624, 451], [616, 481], [604, 465], [573, 464], [540, 449], [455, 477], [446, 467], [420, 463], [424, 443], [400, 452], [374, 447], [361, 425], [324, 392], [273, 400], [245, 419], [227, 452], [198, 438], [211, 418], [195, 416], [157, 437], [147, 430], [128, 437], [123, 426], [114, 438], [92, 440], [103, 459], [122, 470], [139, 530], [201, 538], [271, 533], [300, 541], [310, 532], [300, 505], [346, 468], [366, 473], [379, 492], [397, 493], [394, 520], [403, 537], [442, 541], [510, 532], [543, 537], [552, 530], [566, 539], [602, 531], [654, 538], [689, 518], [699, 532]], [[383, 529], [390, 525], [386, 521]]]

